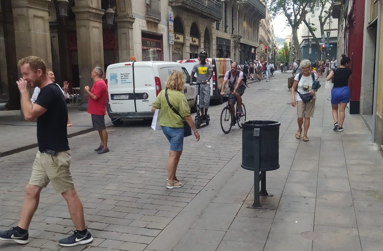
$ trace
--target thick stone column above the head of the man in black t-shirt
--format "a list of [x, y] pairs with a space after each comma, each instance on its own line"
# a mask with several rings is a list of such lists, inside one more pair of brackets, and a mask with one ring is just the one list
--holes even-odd
[[42, 58], [52, 67], [49, 36], [49, 3], [51, 0], [12, 0], [17, 60], [26, 56]]

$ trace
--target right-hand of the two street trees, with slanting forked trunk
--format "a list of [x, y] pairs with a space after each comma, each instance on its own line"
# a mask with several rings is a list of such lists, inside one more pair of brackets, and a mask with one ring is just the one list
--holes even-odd
[[[319, 19], [319, 28], [321, 30], [321, 36], [324, 35], [324, 25], [326, 25], [326, 22], [327, 20], [330, 18], [331, 16], [331, 12], [332, 12], [332, 1], [331, 0], [317, 0], [316, 1], [316, 4], [319, 5], [319, 16], [318, 16], [318, 19]], [[330, 7], [328, 9], [326, 9], [327, 6], [329, 6], [330, 4]], [[314, 8], [314, 5], [312, 4], [313, 8]], [[321, 45], [319, 44], [319, 39], [315, 36], [315, 33], [314, 31], [317, 30], [316, 27], [313, 27], [313, 23], [309, 23], [306, 18], [303, 19], [303, 23], [307, 26], [311, 36], [313, 36], [313, 39], [316, 43], [316, 45], [318, 46], [319, 48], [319, 51], [321, 51]], [[323, 55], [322, 55], [323, 56]], [[325, 58], [325, 57], [324, 57]]]

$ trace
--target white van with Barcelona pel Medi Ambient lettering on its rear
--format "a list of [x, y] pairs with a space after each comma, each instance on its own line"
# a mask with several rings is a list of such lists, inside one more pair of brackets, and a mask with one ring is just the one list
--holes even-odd
[[185, 74], [185, 94], [192, 110], [196, 107], [196, 87], [190, 86], [190, 75], [185, 67], [176, 62], [149, 61], [111, 64], [106, 69], [108, 85], [108, 112], [114, 125], [126, 120], [153, 118], [151, 111], [155, 98], [173, 71]]

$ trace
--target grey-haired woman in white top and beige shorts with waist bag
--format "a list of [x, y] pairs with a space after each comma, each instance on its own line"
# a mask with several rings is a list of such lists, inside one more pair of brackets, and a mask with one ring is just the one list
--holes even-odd
[[[314, 116], [315, 109], [315, 100], [316, 94], [313, 90], [314, 79], [318, 77], [311, 74], [311, 63], [308, 59], [303, 59], [300, 63], [302, 68], [302, 73], [296, 74], [294, 78], [294, 83], [291, 92], [291, 105], [296, 107], [296, 115], [298, 117], [298, 131], [295, 134], [295, 138], [300, 139], [302, 135], [302, 125], [304, 126], [303, 130], [303, 141], [309, 141], [307, 137], [307, 131], [310, 126], [310, 118]], [[311, 100], [309, 102], [303, 102], [302, 96], [304, 94], [311, 95]]]

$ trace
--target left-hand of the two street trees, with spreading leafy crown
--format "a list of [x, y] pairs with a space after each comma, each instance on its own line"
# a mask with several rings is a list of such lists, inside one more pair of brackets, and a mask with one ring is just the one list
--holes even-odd
[[[293, 42], [298, 59], [303, 59], [303, 55], [298, 41], [297, 31], [308, 13], [306, 8], [309, 2], [309, 0], [272, 0], [269, 3], [270, 11], [282, 11], [283, 15], [286, 16], [287, 25], [291, 27], [293, 33]], [[311, 1], [311, 4], [313, 3], [315, 3], [315, 0]]]

